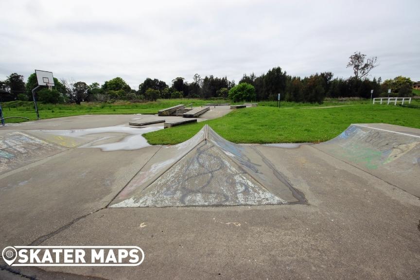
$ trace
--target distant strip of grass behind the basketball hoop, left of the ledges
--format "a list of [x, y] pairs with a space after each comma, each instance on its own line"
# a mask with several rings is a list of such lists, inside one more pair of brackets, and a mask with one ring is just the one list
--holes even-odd
[[[41, 104], [38, 103], [39, 116], [41, 119], [68, 117], [87, 114], [157, 114], [157, 111], [178, 104], [193, 106], [205, 105], [206, 103], [225, 103], [226, 100], [200, 100], [200, 99], [159, 99], [155, 102], [131, 103], [82, 103], [75, 104]], [[33, 102], [12, 101], [1, 104], [4, 117], [25, 117], [36, 120]], [[7, 119], [6, 123], [24, 122], [23, 119]]]

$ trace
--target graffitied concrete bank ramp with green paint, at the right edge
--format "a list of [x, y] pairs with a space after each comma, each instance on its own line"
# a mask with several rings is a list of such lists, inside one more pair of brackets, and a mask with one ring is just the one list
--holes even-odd
[[336, 138], [313, 147], [420, 197], [420, 129], [351, 124]]

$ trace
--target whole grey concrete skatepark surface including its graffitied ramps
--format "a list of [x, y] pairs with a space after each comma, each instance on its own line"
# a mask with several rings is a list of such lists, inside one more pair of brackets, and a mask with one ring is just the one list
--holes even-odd
[[128, 125], [143, 118], [0, 129], [3, 247], [137, 245], [145, 253], [135, 267], [2, 260], [0, 278], [418, 278], [418, 129], [353, 124], [319, 144], [259, 145], [231, 143], [204, 125], [186, 142], [151, 146], [141, 134], [163, 126]]

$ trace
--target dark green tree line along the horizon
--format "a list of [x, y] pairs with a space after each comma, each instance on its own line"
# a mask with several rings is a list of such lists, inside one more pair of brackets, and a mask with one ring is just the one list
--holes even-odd
[[[382, 81], [368, 78], [368, 73], [376, 64], [376, 57], [366, 59], [365, 54], [356, 52], [350, 57], [347, 67], [353, 69], [350, 78], [333, 78], [332, 72], [315, 73], [307, 77], [291, 76], [280, 67], [274, 67], [260, 76], [254, 73], [244, 74], [238, 85], [234, 80], [213, 75], [202, 78], [199, 74], [188, 82], [183, 77], [176, 77], [171, 85], [159, 79], [146, 78], [137, 89], [132, 89], [121, 78], [116, 77], [103, 85], [73, 80], [54, 78], [52, 90], [43, 88], [37, 91], [37, 99], [43, 103], [76, 103], [84, 101], [106, 102], [110, 100], [147, 100], [158, 98], [200, 98], [230, 99], [232, 101], [273, 101], [322, 103], [326, 97], [370, 98], [387, 96], [411, 96], [413, 82], [410, 78], [397, 76]], [[37, 86], [35, 73], [24, 82], [22, 75], [10, 74], [5, 81], [0, 81], [0, 101], [32, 101], [32, 89]]]

